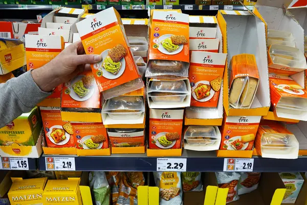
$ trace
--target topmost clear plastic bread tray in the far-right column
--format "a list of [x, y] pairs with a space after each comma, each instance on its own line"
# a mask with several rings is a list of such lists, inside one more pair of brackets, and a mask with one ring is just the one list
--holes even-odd
[[268, 29], [268, 46], [272, 44], [295, 47], [295, 39], [291, 32]]

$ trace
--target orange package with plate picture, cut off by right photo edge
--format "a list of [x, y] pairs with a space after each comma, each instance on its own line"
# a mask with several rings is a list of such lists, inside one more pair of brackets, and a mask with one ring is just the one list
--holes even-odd
[[277, 117], [307, 120], [307, 92], [291, 77], [269, 74], [271, 104]]

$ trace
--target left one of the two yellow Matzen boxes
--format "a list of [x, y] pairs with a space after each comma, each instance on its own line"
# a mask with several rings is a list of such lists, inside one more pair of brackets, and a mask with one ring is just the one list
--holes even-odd
[[42, 193], [47, 177], [35, 179], [16, 179], [8, 192], [12, 205], [42, 204]]

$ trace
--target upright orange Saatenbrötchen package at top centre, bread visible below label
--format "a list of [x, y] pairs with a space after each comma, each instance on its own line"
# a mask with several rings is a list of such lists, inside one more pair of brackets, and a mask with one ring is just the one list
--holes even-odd
[[188, 77], [189, 15], [153, 10], [146, 77]]

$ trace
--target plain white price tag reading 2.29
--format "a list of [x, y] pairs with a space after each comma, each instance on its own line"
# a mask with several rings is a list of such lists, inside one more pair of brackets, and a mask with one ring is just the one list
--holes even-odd
[[157, 171], [185, 172], [186, 158], [157, 158]]

